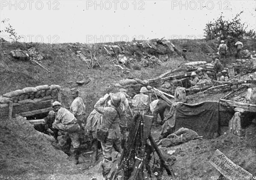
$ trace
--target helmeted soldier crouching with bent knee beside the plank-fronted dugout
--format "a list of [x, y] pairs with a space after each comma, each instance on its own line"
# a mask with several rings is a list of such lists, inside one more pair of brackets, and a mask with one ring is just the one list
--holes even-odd
[[80, 154], [79, 132], [81, 128], [77, 123], [77, 119], [69, 110], [61, 107], [61, 103], [58, 101], [52, 103], [52, 108], [57, 113], [52, 128], [69, 133], [74, 147], [75, 164], [78, 164]]

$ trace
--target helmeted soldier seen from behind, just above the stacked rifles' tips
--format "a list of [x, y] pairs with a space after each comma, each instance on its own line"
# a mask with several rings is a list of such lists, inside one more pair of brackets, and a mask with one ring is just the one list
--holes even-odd
[[134, 107], [134, 113], [147, 114], [149, 110], [149, 93], [146, 87], [140, 89], [140, 94], [136, 94], [132, 99], [132, 107]]

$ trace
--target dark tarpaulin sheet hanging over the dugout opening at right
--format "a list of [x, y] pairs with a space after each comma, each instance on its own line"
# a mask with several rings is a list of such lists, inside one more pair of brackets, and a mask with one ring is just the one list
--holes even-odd
[[175, 129], [189, 128], [204, 136], [213, 138], [218, 132], [218, 102], [202, 102], [196, 105], [181, 104], [176, 110]]

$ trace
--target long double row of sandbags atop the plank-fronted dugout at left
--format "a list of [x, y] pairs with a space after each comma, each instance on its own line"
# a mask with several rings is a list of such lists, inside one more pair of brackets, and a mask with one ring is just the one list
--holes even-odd
[[25, 87], [22, 90], [14, 90], [5, 93], [0, 98], [0, 103], [8, 103], [8, 101], [18, 104], [37, 103], [49, 99], [58, 99], [58, 91], [61, 89], [59, 85], [40, 85], [37, 87]]

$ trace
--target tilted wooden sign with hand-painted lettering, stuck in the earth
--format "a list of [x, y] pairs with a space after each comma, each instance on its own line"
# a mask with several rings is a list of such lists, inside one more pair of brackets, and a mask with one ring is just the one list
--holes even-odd
[[209, 160], [209, 163], [229, 180], [250, 180], [253, 177], [252, 174], [233, 163], [218, 149]]

